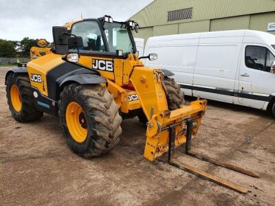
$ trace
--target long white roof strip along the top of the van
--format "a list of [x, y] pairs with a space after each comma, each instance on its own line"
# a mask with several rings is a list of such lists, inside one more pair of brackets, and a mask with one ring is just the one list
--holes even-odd
[[[240, 41], [245, 43], [267, 43], [275, 44], [275, 35], [260, 32], [255, 30], [228, 30], [220, 32], [201, 32], [190, 34], [173, 34], [166, 36], [153, 36], [148, 38], [148, 43], [157, 43], [163, 41], [175, 41], [181, 39], [195, 39], [195, 38], [217, 38], [217, 37], [239, 37]], [[243, 38], [245, 37], [245, 38]]]

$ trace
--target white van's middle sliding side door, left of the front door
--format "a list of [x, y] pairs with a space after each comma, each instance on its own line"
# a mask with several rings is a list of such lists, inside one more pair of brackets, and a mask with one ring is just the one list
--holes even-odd
[[221, 102], [233, 102], [240, 44], [201, 44], [193, 80], [193, 94]]

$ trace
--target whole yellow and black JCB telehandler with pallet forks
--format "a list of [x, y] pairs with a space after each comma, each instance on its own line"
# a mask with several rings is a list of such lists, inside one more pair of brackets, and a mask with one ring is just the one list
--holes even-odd
[[[30, 122], [43, 113], [60, 118], [69, 147], [83, 157], [109, 152], [120, 141], [122, 119], [138, 117], [146, 125], [144, 157], [150, 161], [168, 152], [168, 163], [239, 192], [248, 190], [189, 165], [171, 161], [173, 149], [186, 144], [186, 154], [257, 176], [233, 165], [189, 152], [206, 100], [184, 105], [184, 93], [170, 71], [146, 68], [138, 58], [131, 30], [134, 21], [111, 16], [82, 19], [53, 27], [54, 47], [40, 40], [27, 67], [5, 76], [14, 119]], [[156, 54], [142, 57], [154, 60]]]

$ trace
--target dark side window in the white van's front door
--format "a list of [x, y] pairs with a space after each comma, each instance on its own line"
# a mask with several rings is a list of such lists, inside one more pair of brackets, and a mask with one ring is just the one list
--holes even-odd
[[265, 47], [247, 46], [245, 48], [245, 65], [250, 69], [270, 72], [274, 55]]

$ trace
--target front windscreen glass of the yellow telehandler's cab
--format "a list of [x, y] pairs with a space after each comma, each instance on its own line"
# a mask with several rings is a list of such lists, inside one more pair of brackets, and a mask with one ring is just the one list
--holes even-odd
[[104, 23], [104, 32], [107, 37], [110, 52], [120, 49], [123, 52], [133, 53], [133, 43], [126, 26], [122, 23]]

